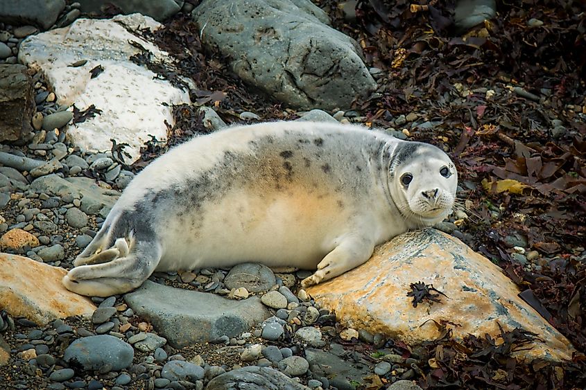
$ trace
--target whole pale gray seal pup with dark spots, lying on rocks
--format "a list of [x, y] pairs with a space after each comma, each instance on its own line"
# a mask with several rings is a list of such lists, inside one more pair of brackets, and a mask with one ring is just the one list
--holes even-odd
[[443, 220], [457, 181], [442, 150], [366, 127], [231, 127], [146, 166], [63, 283], [110, 296], [155, 271], [256, 262], [317, 268], [307, 287], [361, 265], [375, 245]]

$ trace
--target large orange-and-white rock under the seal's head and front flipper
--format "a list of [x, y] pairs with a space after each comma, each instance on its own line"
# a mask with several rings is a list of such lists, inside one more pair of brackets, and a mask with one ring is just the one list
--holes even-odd
[[[414, 308], [407, 293], [417, 281], [433, 284], [449, 298]], [[323, 308], [334, 310], [345, 326], [410, 345], [436, 339], [440, 331], [435, 322], [448, 321], [460, 339], [486, 333], [499, 339], [500, 323], [504, 330], [522, 327], [544, 340], [518, 357], [570, 359], [573, 351], [558, 330], [517, 296], [517, 285], [497, 265], [435, 229], [398, 236], [377, 247], [365, 264], [307, 292]]]

